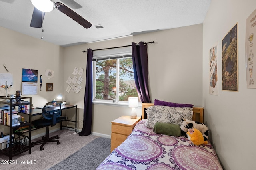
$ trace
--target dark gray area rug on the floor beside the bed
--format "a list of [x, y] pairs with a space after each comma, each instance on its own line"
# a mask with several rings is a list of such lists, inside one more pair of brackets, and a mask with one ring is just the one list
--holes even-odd
[[98, 137], [49, 170], [95, 170], [110, 154], [110, 139]]

